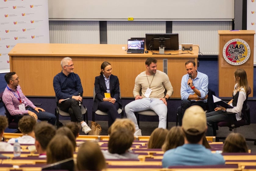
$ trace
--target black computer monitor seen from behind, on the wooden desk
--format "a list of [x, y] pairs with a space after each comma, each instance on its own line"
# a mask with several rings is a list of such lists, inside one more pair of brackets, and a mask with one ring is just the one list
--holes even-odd
[[165, 50], [179, 50], [179, 34], [178, 33], [147, 33], [146, 34], [147, 50], [159, 50], [160, 54], [164, 54]]

